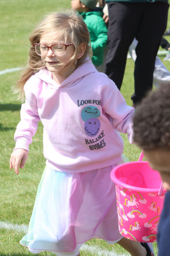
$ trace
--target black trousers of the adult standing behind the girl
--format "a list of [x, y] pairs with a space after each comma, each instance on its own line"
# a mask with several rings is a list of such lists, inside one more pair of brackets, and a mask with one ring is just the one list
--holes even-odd
[[136, 47], [134, 79], [137, 104], [152, 89], [155, 58], [166, 30], [169, 4], [164, 2], [109, 2], [108, 53], [105, 73], [120, 90], [127, 53], [134, 37]]

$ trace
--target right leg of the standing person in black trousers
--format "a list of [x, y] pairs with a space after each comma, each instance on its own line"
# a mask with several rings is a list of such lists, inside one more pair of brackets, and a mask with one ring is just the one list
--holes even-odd
[[155, 58], [166, 30], [169, 7], [165, 2], [144, 4], [145, 9], [136, 34], [135, 93], [131, 97], [134, 105], [139, 104], [152, 89]]

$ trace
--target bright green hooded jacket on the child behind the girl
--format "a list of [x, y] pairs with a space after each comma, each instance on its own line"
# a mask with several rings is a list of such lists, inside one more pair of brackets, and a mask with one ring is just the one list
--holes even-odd
[[103, 63], [104, 48], [107, 45], [107, 26], [103, 13], [98, 11], [80, 12], [90, 33], [92, 45], [92, 62], [99, 66]]

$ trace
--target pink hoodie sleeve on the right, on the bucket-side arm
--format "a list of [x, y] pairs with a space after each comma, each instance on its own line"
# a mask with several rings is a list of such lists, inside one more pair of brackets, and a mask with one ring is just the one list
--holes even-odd
[[129, 142], [132, 143], [132, 117], [135, 109], [126, 104], [121, 92], [111, 80], [103, 88], [101, 99], [102, 109], [111, 117], [113, 127], [119, 132], [127, 133]]

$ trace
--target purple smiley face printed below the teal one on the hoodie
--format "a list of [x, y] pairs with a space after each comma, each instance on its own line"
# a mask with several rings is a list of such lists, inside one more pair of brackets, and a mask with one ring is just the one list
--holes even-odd
[[97, 118], [89, 118], [86, 122], [85, 122], [85, 133], [90, 136], [90, 137], [94, 137], [98, 134], [100, 130], [100, 121]]

